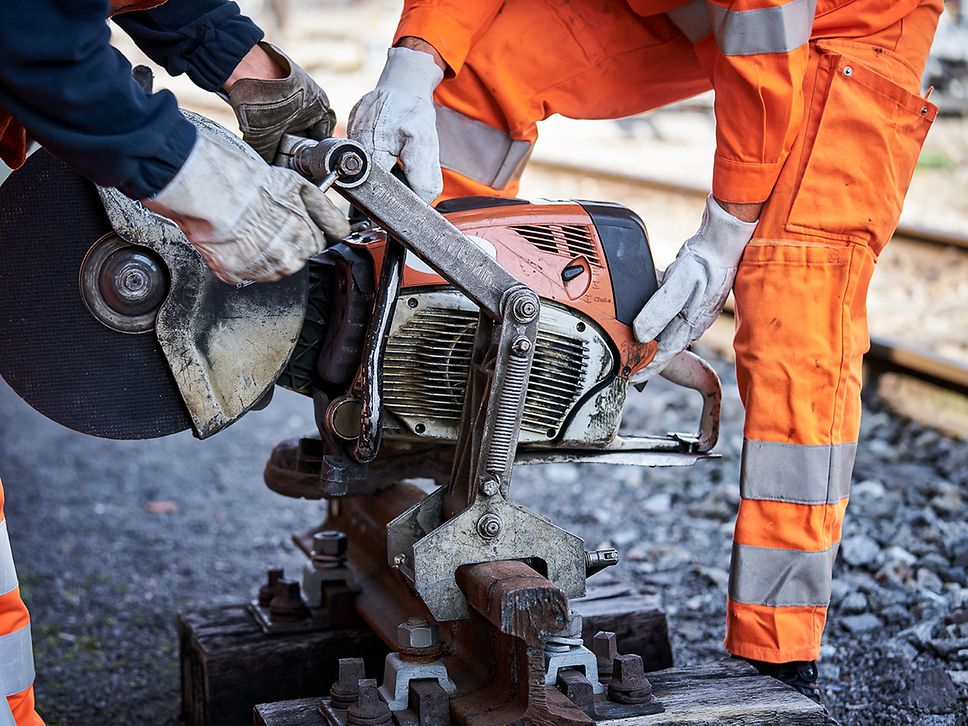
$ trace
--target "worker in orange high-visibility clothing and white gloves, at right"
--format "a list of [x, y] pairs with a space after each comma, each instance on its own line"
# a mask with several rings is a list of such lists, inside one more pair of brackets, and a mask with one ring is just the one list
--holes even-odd
[[[941, 0], [407, 0], [349, 132], [414, 191], [513, 196], [552, 114], [715, 91], [699, 231], [635, 320], [654, 376], [736, 301], [746, 408], [726, 649], [820, 699], [860, 423], [865, 300], [937, 109]], [[578, 152], [581, 154], [582, 152]], [[580, 158], [579, 158], [580, 160]]]

